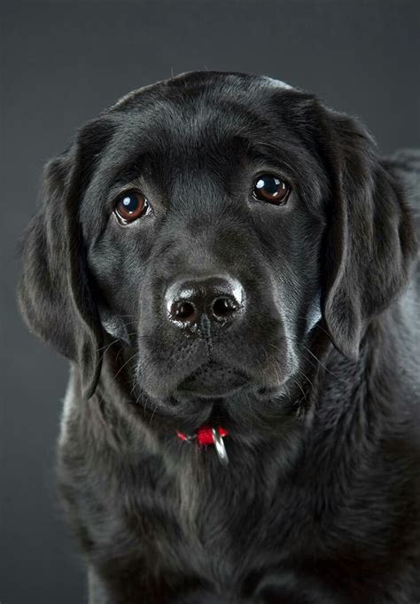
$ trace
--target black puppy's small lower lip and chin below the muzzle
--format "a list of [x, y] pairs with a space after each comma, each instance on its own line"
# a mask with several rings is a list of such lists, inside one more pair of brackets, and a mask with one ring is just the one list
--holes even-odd
[[199, 398], [224, 397], [236, 393], [249, 384], [249, 377], [228, 365], [210, 362], [198, 367], [178, 386], [182, 396]]

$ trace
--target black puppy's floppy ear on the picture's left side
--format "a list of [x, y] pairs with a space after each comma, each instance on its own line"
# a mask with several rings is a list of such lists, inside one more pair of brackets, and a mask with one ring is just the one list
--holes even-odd
[[27, 326], [79, 366], [87, 398], [99, 379], [103, 330], [90, 291], [79, 205], [105, 142], [102, 136], [92, 144], [96, 131], [90, 122], [66, 153], [46, 165], [41, 208], [23, 238], [19, 284]]

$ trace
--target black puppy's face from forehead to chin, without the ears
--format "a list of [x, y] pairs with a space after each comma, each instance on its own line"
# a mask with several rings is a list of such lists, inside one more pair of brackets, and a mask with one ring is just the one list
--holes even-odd
[[328, 183], [283, 112], [264, 117], [271, 88], [128, 110], [82, 202], [102, 322], [136, 352], [136, 396], [177, 412], [280, 389], [319, 309]]

